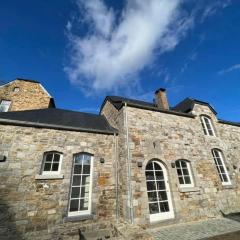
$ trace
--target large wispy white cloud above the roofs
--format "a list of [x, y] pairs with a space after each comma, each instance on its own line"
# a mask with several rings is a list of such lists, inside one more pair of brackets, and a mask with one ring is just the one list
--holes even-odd
[[68, 31], [72, 51], [65, 71], [72, 83], [93, 91], [134, 86], [155, 55], [174, 49], [193, 24], [180, 0], [128, 0], [118, 22], [101, 0], [77, 3], [91, 29], [84, 37]]

